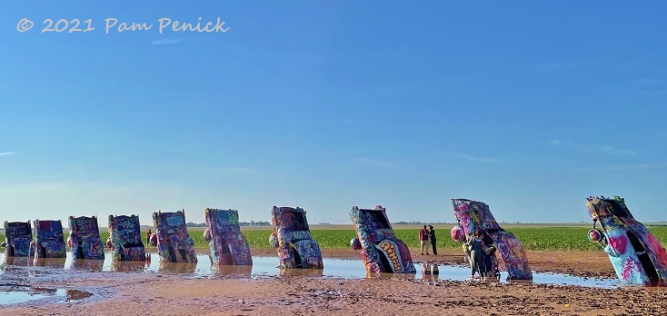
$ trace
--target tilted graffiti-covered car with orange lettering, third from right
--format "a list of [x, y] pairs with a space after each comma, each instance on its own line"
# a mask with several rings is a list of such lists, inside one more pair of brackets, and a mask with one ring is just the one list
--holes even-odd
[[373, 210], [353, 206], [350, 218], [357, 237], [353, 238], [350, 244], [354, 250], [361, 250], [366, 272], [416, 272], [410, 250], [405, 242], [393, 233], [386, 212], [382, 205]]

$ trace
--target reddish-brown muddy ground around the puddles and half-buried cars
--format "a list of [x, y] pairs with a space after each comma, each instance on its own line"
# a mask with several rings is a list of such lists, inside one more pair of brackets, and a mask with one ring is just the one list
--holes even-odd
[[[459, 264], [456, 250], [413, 252], [415, 262]], [[253, 249], [258, 256], [274, 249]], [[329, 258], [358, 259], [351, 250]], [[528, 252], [535, 272], [615, 277], [602, 252]], [[276, 258], [277, 261], [277, 258]], [[667, 315], [667, 289], [605, 290], [544, 284], [308, 277], [198, 278], [164, 273], [83, 273], [32, 286], [93, 291], [83, 301], [3, 306], [2, 315]]]

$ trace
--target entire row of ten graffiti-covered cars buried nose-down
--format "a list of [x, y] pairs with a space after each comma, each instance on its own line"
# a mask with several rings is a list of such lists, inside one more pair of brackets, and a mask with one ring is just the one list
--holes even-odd
[[[456, 242], [466, 242], [473, 232], [483, 233], [484, 243], [493, 245], [500, 254], [508, 281], [532, 280], [526, 252], [512, 232], [505, 231], [495, 221], [489, 206], [483, 202], [452, 199], [457, 221], [451, 231]], [[601, 245], [609, 255], [618, 277], [627, 283], [667, 285], [667, 253], [653, 234], [637, 222], [622, 198], [589, 197], [587, 206], [593, 228], [590, 241]], [[207, 208], [204, 210], [207, 228], [204, 241], [209, 242], [215, 265], [250, 266], [253, 258], [239, 224], [238, 211]], [[405, 242], [396, 237], [386, 214], [378, 205], [374, 209], [353, 206], [350, 212], [357, 236], [350, 242], [360, 251], [361, 259], [370, 274], [415, 273], [413, 258]], [[190, 236], [185, 212], [154, 212], [155, 233], [149, 242], [157, 248], [161, 262], [196, 263], [194, 241]], [[602, 230], [597, 228], [600, 223]], [[139, 217], [108, 218], [109, 240], [106, 242], [114, 261], [145, 261]], [[273, 207], [269, 237], [276, 248], [281, 268], [324, 269], [322, 252], [314, 241], [304, 209]], [[105, 243], [100, 239], [95, 217], [69, 217], [70, 235], [67, 244], [73, 259], [104, 260]], [[35, 238], [30, 222], [5, 222], [5, 256], [65, 258], [65, 241], [60, 221], [35, 221]], [[500, 262], [492, 257], [493, 271]], [[496, 277], [499, 277], [496, 273]]]

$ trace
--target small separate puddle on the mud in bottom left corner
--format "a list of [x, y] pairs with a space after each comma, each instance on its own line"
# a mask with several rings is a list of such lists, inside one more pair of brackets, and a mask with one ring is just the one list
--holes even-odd
[[0, 286], [0, 305], [16, 304], [25, 301], [55, 298], [58, 301], [80, 301], [93, 296], [89, 291], [70, 289], [2, 287]]

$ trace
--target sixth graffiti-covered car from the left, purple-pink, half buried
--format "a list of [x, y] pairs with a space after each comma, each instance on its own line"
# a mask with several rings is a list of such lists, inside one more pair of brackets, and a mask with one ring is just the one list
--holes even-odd
[[204, 210], [206, 230], [204, 241], [211, 247], [214, 264], [253, 265], [250, 245], [245, 239], [239, 224], [236, 210]]

